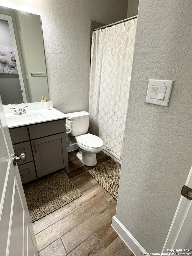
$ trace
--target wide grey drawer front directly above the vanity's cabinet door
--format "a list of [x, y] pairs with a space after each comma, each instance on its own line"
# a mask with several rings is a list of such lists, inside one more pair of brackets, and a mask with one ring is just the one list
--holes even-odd
[[65, 119], [29, 126], [31, 139], [65, 132]]

